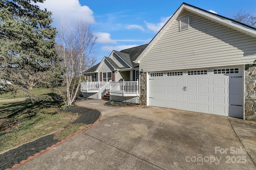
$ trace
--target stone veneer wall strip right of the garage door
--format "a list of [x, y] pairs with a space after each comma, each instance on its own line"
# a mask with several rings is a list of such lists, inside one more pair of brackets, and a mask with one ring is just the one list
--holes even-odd
[[256, 121], [256, 70], [255, 66], [245, 65], [244, 118]]

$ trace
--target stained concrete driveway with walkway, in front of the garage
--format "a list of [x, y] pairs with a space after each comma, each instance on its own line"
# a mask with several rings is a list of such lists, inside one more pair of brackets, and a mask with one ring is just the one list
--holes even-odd
[[105, 112], [91, 129], [17, 169], [256, 168], [254, 122], [160, 107], [113, 108], [102, 106], [102, 100], [93, 103], [103, 111], [114, 110]]

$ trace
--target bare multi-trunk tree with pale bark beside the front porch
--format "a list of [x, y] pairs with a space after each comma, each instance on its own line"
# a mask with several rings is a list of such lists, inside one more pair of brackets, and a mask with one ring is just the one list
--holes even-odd
[[96, 40], [97, 37], [90, 30], [90, 25], [84, 21], [78, 20], [76, 27], [62, 21], [57, 34], [56, 51], [63, 58], [67, 105], [71, 105], [76, 99], [82, 73], [96, 61]]

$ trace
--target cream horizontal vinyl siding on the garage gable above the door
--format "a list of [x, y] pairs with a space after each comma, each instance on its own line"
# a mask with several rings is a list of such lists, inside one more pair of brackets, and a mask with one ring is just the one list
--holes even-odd
[[[179, 31], [189, 17], [190, 28]], [[184, 11], [140, 61], [144, 71], [204, 68], [252, 63], [256, 39]]]

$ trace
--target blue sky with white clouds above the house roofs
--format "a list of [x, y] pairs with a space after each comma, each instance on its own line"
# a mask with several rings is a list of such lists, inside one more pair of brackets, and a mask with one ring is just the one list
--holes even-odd
[[158, 33], [182, 2], [232, 18], [240, 10], [256, 14], [256, 0], [46, 0], [54, 26], [82, 19], [98, 36], [97, 63], [112, 50], [144, 45]]

